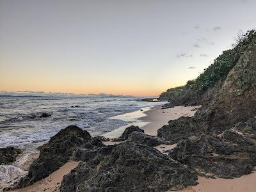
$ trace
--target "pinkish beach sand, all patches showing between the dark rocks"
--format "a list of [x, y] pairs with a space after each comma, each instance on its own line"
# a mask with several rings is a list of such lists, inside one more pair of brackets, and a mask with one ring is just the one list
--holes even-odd
[[[124, 132], [125, 127], [129, 127], [134, 124], [143, 125], [140, 129], [145, 131], [145, 134], [149, 134], [152, 136], [157, 135], [157, 129], [160, 129], [163, 125], [168, 124], [170, 120], [175, 120], [180, 116], [193, 116], [196, 112], [196, 109], [200, 108], [200, 106], [177, 106], [174, 108], [162, 109], [162, 106], [153, 106], [143, 108], [142, 111], [134, 111], [131, 113], [125, 113], [124, 115], [113, 116], [112, 118], [118, 118], [121, 120], [125, 120], [128, 125], [117, 128], [114, 131], [108, 132], [109, 136], [116, 137], [118, 134], [122, 134]], [[123, 131], [122, 131], [123, 130]], [[119, 136], [120, 136], [119, 135]], [[115, 141], [104, 141], [105, 145], [115, 145], [121, 142]], [[124, 141], [125, 142], [125, 141]], [[158, 145], [156, 148], [163, 154], [165, 150], [175, 148], [177, 143], [173, 145]], [[168, 155], [168, 154], [166, 154]], [[61, 166], [60, 169], [56, 170], [56, 172], [51, 173], [48, 177], [35, 182], [31, 186], [27, 186], [26, 188], [15, 189], [17, 192], [24, 191], [60, 191], [59, 187], [61, 184], [61, 180], [64, 175], [69, 173], [72, 169], [76, 168], [78, 162], [76, 161], [68, 161], [68, 163]], [[187, 188], [180, 189], [179, 192], [214, 192], [214, 191], [255, 191], [256, 188], [256, 172], [253, 172], [249, 175], [243, 175], [239, 178], [235, 179], [207, 179], [205, 177], [198, 176], [198, 184], [196, 186], [188, 186]]]

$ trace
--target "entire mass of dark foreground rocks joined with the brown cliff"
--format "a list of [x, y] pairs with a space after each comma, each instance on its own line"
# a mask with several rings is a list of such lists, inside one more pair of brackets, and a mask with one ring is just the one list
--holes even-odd
[[[63, 177], [60, 191], [175, 191], [196, 186], [199, 177], [227, 180], [252, 173], [256, 165], [256, 43], [240, 45], [245, 48], [238, 47], [243, 52], [236, 58], [232, 55], [232, 67], [223, 79], [196, 93], [200, 103], [182, 96], [165, 106], [202, 104], [194, 116], [170, 120], [157, 136], [128, 127], [114, 140], [116, 145], [105, 145], [104, 138], [92, 138], [87, 131], [68, 126], [40, 147], [40, 156], [16, 188], [48, 177], [68, 161], [79, 164]], [[172, 148], [157, 150], [164, 145]], [[253, 190], [248, 186], [248, 191]]]

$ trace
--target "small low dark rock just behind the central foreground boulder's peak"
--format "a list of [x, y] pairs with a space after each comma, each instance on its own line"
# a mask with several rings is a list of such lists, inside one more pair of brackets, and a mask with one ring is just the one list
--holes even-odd
[[143, 132], [131, 132], [127, 141], [147, 145], [149, 147], [156, 147], [157, 145], [164, 143], [163, 139], [144, 134]]

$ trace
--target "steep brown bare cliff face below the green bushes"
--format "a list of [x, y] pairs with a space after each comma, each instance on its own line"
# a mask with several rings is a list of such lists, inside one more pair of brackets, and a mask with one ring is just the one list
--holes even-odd
[[157, 131], [157, 136], [172, 143], [198, 132], [219, 134], [237, 122], [256, 115], [256, 45], [248, 49], [212, 100], [205, 102], [192, 118], [173, 120]]

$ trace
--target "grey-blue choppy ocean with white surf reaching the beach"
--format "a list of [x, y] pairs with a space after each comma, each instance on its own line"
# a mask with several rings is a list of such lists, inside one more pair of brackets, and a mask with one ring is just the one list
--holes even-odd
[[35, 149], [68, 125], [92, 136], [106, 134], [129, 123], [113, 116], [163, 103], [138, 97], [0, 97], [0, 147]]

